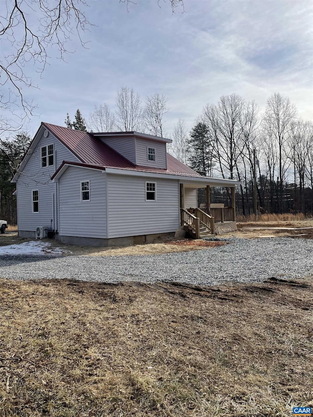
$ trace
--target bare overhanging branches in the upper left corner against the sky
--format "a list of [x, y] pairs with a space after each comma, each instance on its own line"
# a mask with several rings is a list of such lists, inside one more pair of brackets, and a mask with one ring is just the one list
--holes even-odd
[[[73, 32], [81, 39], [81, 33], [90, 24], [83, 12], [86, 6], [84, 0], [2, 1], [0, 109], [3, 112], [9, 110], [15, 117], [20, 117], [21, 122], [31, 115], [34, 104], [24, 97], [26, 87], [35, 87], [27, 75], [28, 68], [35, 66], [37, 72], [44, 71], [48, 47], [56, 47], [63, 59], [66, 43]], [[2, 118], [0, 123], [3, 132], [12, 127], [13, 122]]]

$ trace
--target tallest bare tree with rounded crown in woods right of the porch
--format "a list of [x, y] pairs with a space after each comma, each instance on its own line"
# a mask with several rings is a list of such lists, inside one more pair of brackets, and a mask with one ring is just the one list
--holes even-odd
[[291, 104], [288, 97], [275, 93], [268, 98], [264, 124], [268, 136], [275, 138], [278, 148], [279, 205], [281, 212], [283, 212], [283, 184], [289, 163], [286, 142], [291, 122], [296, 115], [297, 109]]

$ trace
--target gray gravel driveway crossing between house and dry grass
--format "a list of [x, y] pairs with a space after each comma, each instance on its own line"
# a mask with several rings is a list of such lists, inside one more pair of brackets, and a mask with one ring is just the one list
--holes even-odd
[[140, 256], [2, 255], [0, 277], [120, 281], [177, 281], [215, 285], [260, 282], [269, 277], [313, 275], [313, 241], [226, 239], [229, 244], [194, 252]]

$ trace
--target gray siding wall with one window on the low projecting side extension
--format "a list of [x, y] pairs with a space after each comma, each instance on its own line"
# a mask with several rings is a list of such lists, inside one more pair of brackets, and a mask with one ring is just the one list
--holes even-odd
[[[81, 201], [81, 181], [90, 184], [90, 201]], [[107, 238], [106, 174], [68, 167], [59, 180], [61, 236]]]

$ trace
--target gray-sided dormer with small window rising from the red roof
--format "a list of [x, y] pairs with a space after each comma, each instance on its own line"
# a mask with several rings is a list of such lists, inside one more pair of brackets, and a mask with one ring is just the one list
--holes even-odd
[[171, 139], [138, 132], [92, 133], [136, 166], [166, 170], [166, 144]]

